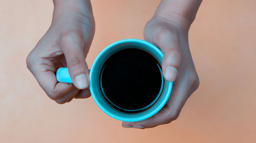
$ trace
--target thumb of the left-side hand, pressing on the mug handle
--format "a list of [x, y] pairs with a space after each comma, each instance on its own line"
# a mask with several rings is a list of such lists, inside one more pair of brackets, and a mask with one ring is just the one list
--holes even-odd
[[89, 69], [83, 53], [81, 34], [70, 32], [62, 36], [61, 48], [65, 54], [70, 77], [78, 89], [89, 87]]

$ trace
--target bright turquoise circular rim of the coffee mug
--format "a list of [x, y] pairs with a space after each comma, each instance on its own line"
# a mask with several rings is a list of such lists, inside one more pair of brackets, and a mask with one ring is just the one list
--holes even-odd
[[[92, 67], [91, 67], [91, 70], [90, 70], [90, 74], [89, 74], [89, 78], [93, 79], [92, 76], [93, 76], [93, 73], [95, 72], [95, 68], [94, 67], [96, 66], [97, 62], [101, 59], [101, 57], [103, 56], [103, 54], [106, 51], [108, 51], [112, 47], [115, 47], [115, 46], [117, 46], [119, 44], [129, 43], [129, 42], [144, 44], [144, 45], [146, 45], [148, 47], [151, 47], [155, 51], [156, 54], [159, 54], [161, 57], [163, 56], [163, 53], [161, 52], [161, 50], [158, 49], [155, 45], [153, 45], [153, 44], [151, 44], [149, 42], [146, 42], [146, 41], [143, 41], [143, 40], [139, 40], [139, 39], [123, 39], [123, 40], [119, 40], [119, 41], [116, 41], [116, 42], [106, 46], [103, 50], [100, 51], [100, 53], [97, 55], [97, 57], [95, 58], [95, 60], [94, 60], [94, 62], [92, 64]], [[155, 55], [153, 55], [153, 56], [155, 56]], [[162, 65], [161, 62], [160, 62], [160, 65]], [[105, 109], [101, 105], [101, 103], [98, 101], [97, 97], [95, 97], [96, 96], [96, 94], [95, 94], [96, 91], [94, 91], [93, 81], [92, 80], [90, 80], [90, 92], [91, 92], [91, 95], [93, 97], [94, 102], [97, 104], [97, 106], [104, 113], [106, 113], [106, 115], [109, 115], [110, 117], [112, 117], [114, 119], [125, 121], [125, 122], [136, 122], [136, 121], [141, 121], [141, 120], [145, 120], [147, 118], [152, 117], [153, 115], [155, 115], [165, 105], [165, 103], [169, 99], [169, 95], [170, 95], [170, 93], [172, 91], [173, 82], [167, 82], [167, 84], [168, 84], [167, 85], [167, 89], [166, 89], [167, 91], [164, 94], [164, 98], [163, 98], [162, 102], [158, 106], [155, 106], [153, 111], [145, 113], [145, 114], [143, 114], [141, 116], [138, 116], [136, 118], [125, 118], [125, 117], [117, 116], [115, 113], [112, 113], [108, 109]]]

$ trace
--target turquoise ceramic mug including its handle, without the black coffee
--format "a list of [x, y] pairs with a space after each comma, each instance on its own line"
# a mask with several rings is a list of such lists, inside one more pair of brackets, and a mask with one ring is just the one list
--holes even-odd
[[[161, 90], [153, 103], [145, 110], [136, 113], [122, 112], [112, 107], [104, 98], [101, 92], [100, 85], [100, 71], [104, 62], [115, 52], [126, 48], [138, 48], [147, 51], [155, 57], [155, 59], [162, 65], [163, 53], [153, 44], [138, 39], [124, 39], [110, 44], [105, 47], [96, 57], [90, 70], [90, 92], [98, 105], [98, 107], [112, 118], [125, 122], [136, 122], [152, 117], [157, 113], [166, 103], [172, 91], [173, 82], [168, 82], [163, 78]], [[161, 68], [159, 69], [161, 71]], [[161, 71], [162, 74], [162, 71]], [[69, 76], [68, 68], [59, 68], [56, 73], [58, 82], [72, 83]]]

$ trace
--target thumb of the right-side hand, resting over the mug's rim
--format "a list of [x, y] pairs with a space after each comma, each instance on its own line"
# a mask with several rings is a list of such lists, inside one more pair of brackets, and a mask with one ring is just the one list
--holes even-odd
[[168, 81], [175, 81], [181, 63], [178, 32], [169, 29], [159, 30], [158, 33], [152, 35], [152, 43], [164, 53], [162, 60], [164, 78]]

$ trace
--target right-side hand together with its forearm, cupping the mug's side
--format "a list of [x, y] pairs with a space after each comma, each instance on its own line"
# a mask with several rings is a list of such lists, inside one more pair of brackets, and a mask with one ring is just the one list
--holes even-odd
[[[152, 128], [168, 124], [179, 117], [188, 97], [199, 87], [199, 78], [188, 45], [188, 30], [201, 1], [162, 1], [153, 18], [144, 27], [144, 39], [163, 53], [164, 78], [174, 81], [165, 106], [151, 118], [139, 122], [122, 122], [126, 128]], [[170, 67], [170, 68], [168, 68]]]

